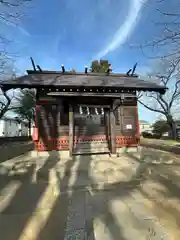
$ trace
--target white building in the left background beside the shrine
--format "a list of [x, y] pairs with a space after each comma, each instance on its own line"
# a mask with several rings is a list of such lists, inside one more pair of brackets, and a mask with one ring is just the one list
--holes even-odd
[[27, 123], [15, 118], [3, 117], [0, 119], [0, 137], [28, 136]]

